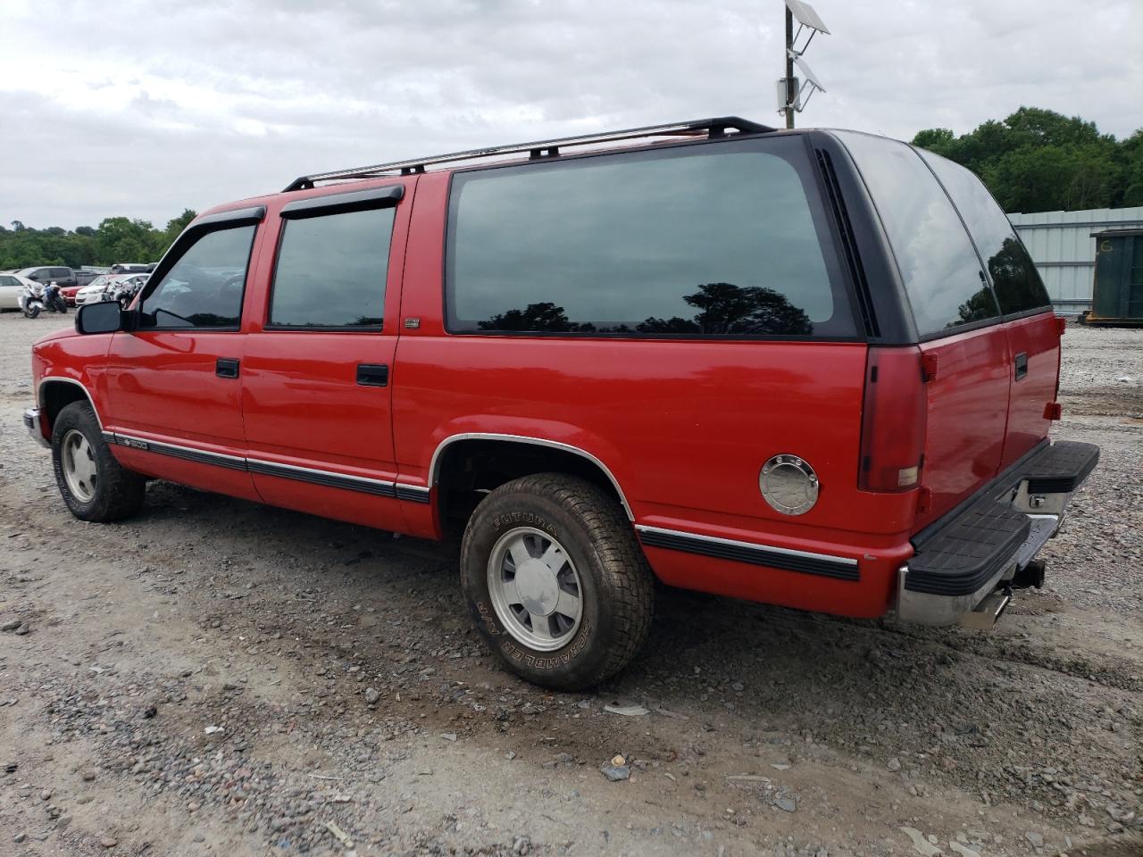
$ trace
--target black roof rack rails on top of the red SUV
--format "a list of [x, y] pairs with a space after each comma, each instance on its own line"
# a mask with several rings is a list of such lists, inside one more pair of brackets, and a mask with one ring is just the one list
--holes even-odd
[[726, 136], [727, 131], [738, 134], [765, 134], [774, 129], [766, 125], [751, 122], [738, 117], [721, 117], [719, 119], [698, 119], [692, 122], [674, 122], [673, 125], [648, 125], [644, 128], [629, 128], [624, 131], [608, 131], [606, 134], [588, 134], [578, 137], [560, 137], [558, 139], [537, 141], [535, 143], [518, 143], [512, 146], [493, 146], [491, 149], [470, 149], [466, 152], [454, 152], [451, 154], [438, 154], [432, 158], [414, 158], [407, 161], [392, 161], [391, 163], [375, 163], [371, 167], [354, 167], [352, 169], [338, 169], [331, 173], [315, 173], [311, 176], [299, 176], [290, 182], [283, 193], [288, 191], [305, 191], [314, 186], [317, 182], [335, 182], [344, 178], [374, 178], [389, 173], [397, 173], [402, 176], [411, 176], [425, 171], [425, 167], [438, 163], [450, 163], [454, 161], [470, 161], [479, 158], [493, 158], [504, 154], [519, 154], [528, 152], [529, 158], [554, 158], [559, 155], [560, 149], [568, 146], [584, 146], [596, 143], [615, 143], [623, 139], [640, 139], [642, 137], [690, 137], [706, 134], [710, 138]]

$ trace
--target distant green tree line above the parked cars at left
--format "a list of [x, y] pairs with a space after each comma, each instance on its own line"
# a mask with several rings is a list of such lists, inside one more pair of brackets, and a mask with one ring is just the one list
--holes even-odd
[[0, 271], [32, 265], [113, 265], [117, 262], [157, 262], [191, 221], [194, 211], [186, 209], [155, 229], [149, 221], [107, 217], [97, 227], [59, 226], [35, 230], [19, 221], [10, 229], [0, 226]]

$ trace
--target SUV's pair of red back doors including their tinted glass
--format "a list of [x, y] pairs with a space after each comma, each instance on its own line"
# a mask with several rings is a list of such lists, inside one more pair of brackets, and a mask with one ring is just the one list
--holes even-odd
[[877, 207], [916, 322], [919, 344], [906, 347], [925, 397], [918, 531], [1047, 436], [1058, 330], [1023, 245], [975, 176], [904, 143], [837, 136]]

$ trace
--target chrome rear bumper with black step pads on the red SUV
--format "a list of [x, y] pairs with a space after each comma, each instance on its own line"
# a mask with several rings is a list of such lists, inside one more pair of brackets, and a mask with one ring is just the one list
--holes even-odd
[[1072, 494], [1098, 459], [1090, 443], [1045, 441], [918, 532], [913, 558], [897, 572], [898, 617], [991, 626], [1007, 606], [1013, 579], [1058, 531]]

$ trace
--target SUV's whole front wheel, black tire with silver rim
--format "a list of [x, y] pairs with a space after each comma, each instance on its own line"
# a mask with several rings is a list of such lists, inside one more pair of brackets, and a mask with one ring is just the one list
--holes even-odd
[[56, 416], [51, 463], [64, 503], [82, 521], [115, 521], [143, 504], [146, 480], [115, 460], [86, 401], [72, 402]]

